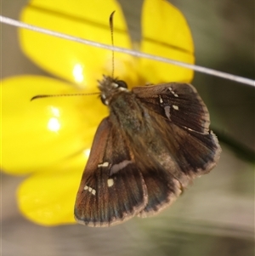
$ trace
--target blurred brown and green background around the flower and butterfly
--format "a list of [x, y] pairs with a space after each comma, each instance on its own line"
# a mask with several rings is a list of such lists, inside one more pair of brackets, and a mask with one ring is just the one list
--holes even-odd
[[[255, 78], [254, 1], [170, 2], [190, 24], [197, 65]], [[19, 19], [26, 3], [2, 0], [2, 14]], [[142, 1], [119, 3], [133, 40], [139, 40]], [[17, 28], [1, 26], [2, 78], [20, 74], [47, 76], [20, 52]], [[133, 218], [108, 229], [32, 224], [22, 217], [15, 201], [16, 188], [23, 178], [2, 174], [2, 255], [254, 255], [254, 156], [248, 155], [246, 148], [255, 148], [255, 89], [198, 73], [193, 84], [207, 103], [212, 129], [222, 139], [223, 153], [211, 174], [196, 179], [160, 215]], [[238, 148], [229, 146], [233, 142], [239, 143]]]

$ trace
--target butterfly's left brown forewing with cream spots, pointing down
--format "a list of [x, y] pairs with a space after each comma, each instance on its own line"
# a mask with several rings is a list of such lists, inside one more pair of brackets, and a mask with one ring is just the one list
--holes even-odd
[[122, 134], [105, 118], [99, 125], [75, 204], [78, 223], [116, 225], [147, 204], [144, 179]]

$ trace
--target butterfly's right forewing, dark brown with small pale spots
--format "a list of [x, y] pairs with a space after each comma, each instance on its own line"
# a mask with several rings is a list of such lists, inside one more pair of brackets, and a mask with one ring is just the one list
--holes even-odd
[[207, 106], [191, 84], [171, 82], [137, 87], [133, 88], [133, 93], [144, 107], [168, 121], [198, 133], [208, 133], [210, 117]]

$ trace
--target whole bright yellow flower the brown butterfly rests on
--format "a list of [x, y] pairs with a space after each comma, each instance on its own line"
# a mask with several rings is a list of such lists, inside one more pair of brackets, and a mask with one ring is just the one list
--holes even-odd
[[[111, 45], [108, 20], [113, 10], [115, 45], [132, 48], [122, 9], [114, 0], [33, 0], [23, 10], [21, 20]], [[8, 174], [30, 174], [18, 190], [20, 210], [28, 219], [41, 225], [74, 223], [73, 207], [82, 171], [107, 108], [97, 95], [31, 98], [98, 92], [97, 80], [102, 74], [111, 75], [112, 53], [27, 30], [20, 30], [20, 44], [31, 60], [62, 80], [21, 76], [2, 81], [2, 169]], [[139, 49], [194, 62], [189, 27], [167, 1], [144, 1]], [[190, 82], [193, 72], [115, 53], [115, 75], [131, 88], [145, 82]]]

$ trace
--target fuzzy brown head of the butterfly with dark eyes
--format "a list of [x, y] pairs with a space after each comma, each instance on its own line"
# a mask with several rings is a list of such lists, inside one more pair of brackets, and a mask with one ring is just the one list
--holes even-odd
[[98, 87], [101, 91], [101, 100], [105, 105], [109, 105], [114, 95], [122, 91], [128, 91], [126, 82], [105, 75], [103, 75], [103, 79], [99, 81]]

